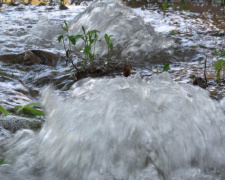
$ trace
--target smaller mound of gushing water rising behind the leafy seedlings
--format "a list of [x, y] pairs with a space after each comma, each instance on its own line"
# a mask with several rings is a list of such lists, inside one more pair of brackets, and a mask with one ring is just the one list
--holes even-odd
[[[97, 29], [102, 40], [96, 54], [107, 54], [104, 35], [112, 36], [114, 55], [117, 58], [129, 57], [131, 60], [149, 59], [154, 52], [171, 47], [174, 41], [156, 34], [154, 29], [121, 1], [96, 1], [71, 22], [71, 34], [82, 34], [86, 30]], [[81, 45], [81, 44], [78, 44]]]

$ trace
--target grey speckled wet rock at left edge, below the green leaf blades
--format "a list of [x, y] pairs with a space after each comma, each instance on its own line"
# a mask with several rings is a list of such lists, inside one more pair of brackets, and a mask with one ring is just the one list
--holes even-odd
[[20, 116], [0, 116], [0, 126], [14, 133], [19, 129], [38, 130], [41, 128], [44, 119], [26, 118]]

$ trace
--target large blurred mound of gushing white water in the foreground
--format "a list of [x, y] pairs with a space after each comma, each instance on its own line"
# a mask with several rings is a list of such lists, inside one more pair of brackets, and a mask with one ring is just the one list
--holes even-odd
[[[71, 97], [47, 89], [38, 135], [19, 131], [0, 173], [5, 179], [220, 179], [224, 112], [206, 91], [151, 79], [84, 79]], [[222, 176], [222, 175], [221, 175]]]

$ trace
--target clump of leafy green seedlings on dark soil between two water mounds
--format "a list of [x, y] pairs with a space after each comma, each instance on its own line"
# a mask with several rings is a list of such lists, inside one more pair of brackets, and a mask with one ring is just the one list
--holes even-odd
[[[64, 21], [62, 29], [66, 33], [58, 36], [58, 41], [63, 42], [66, 63], [71, 64], [75, 76], [79, 79], [81, 76], [87, 76], [87, 74], [106, 75], [110, 74], [112, 71], [121, 70], [121, 68], [117, 66], [118, 62], [112, 62], [110, 57], [110, 52], [113, 50], [113, 43], [111, 41], [112, 35], [105, 33], [104, 42], [107, 45], [107, 54], [106, 57], [100, 58], [98, 54], [96, 54], [96, 45], [98, 42], [102, 41], [98, 36], [100, 32], [96, 29], [87, 31], [84, 26], [81, 28], [82, 34], [70, 35], [68, 24]], [[74, 51], [72, 50], [72, 45], [76, 47], [78, 40], [82, 41], [83, 46], [80, 51], [82, 53], [80, 57], [81, 61], [75, 64], [73, 62]], [[68, 42], [67, 44], [66, 41]]]

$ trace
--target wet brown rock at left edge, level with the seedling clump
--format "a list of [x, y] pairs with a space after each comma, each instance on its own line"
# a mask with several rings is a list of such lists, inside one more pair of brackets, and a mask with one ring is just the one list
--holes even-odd
[[48, 51], [31, 50], [21, 54], [6, 54], [0, 56], [0, 61], [5, 63], [20, 63], [24, 65], [43, 64], [55, 66], [59, 56]]

